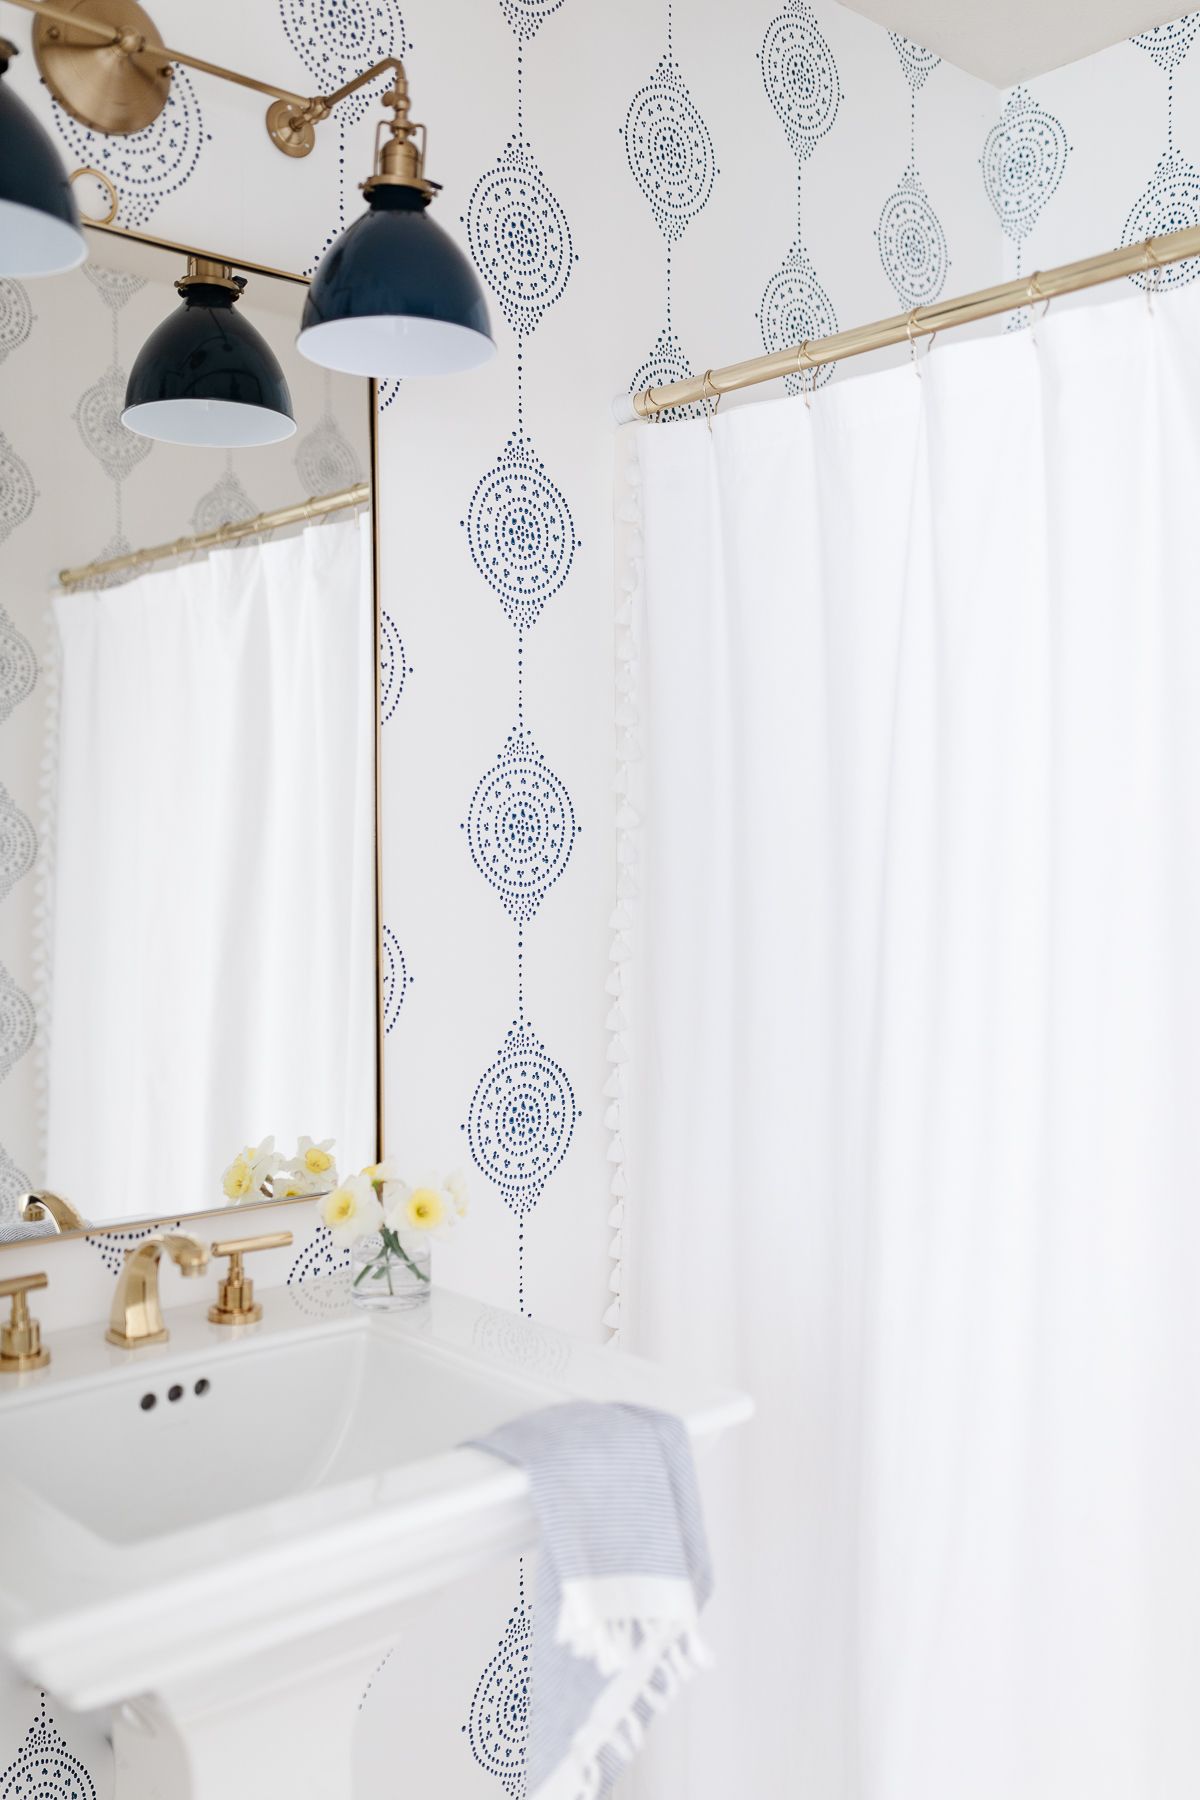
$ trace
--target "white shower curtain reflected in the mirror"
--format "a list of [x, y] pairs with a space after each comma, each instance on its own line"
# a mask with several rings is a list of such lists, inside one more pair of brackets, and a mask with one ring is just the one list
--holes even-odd
[[374, 1147], [371, 527], [58, 594], [45, 1179], [221, 1204], [273, 1132]]

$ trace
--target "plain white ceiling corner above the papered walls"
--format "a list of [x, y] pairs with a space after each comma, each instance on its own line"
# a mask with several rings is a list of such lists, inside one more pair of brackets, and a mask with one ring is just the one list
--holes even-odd
[[842, 0], [997, 88], [1178, 18], [1180, 0]]

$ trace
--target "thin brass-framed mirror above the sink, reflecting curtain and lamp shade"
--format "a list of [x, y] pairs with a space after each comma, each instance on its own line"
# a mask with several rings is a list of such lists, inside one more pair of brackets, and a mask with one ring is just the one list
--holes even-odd
[[212, 405], [140, 436], [187, 250], [88, 247], [0, 281], [0, 1242], [54, 1228], [29, 1188], [115, 1226], [230, 1204], [270, 1134], [378, 1156], [371, 385], [297, 355], [299, 277], [214, 256], [282, 387], [237, 448]]

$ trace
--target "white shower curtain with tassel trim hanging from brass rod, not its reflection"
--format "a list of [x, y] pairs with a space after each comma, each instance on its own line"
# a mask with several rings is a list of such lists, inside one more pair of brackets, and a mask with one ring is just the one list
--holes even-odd
[[1200, 288], [621, 457], [626, 1341], [759, 1408], [639, 1791], [1195, 1800]]

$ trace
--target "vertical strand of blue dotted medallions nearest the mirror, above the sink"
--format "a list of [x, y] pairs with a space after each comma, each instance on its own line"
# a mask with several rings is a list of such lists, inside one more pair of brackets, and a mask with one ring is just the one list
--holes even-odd
[[475, 182], [462, 225], [475, 266], [515, 335], [507, 443], [477, 481], [462, 531], [471, 565], [513, 628], [513, 725], [479, 778], [462, 821], [466, 848], [513, 925], [513, 1015], [498, 1022], [495, 1060], [470, 1096], [471, 1163], [516, 1220], [515, 1301], [525, 1312], [525, 1220], [560, 1166], [579, 1118], [567, 1071], [538, 1039], [525, 1006], [525, 927], [567, 871], [576, 814], [531, 725], [525, 637], [570, 578], [579, 538], [570, 502], [534, 448], [525, 416], [525, 360], [551, 308], [569, 293], [578, 261], [570, 223], [542, 173], [525, 119], [525, 50], [545, 52], [542, 29], [558, 5], [506, 4], [513, 34], [515, 124]]

